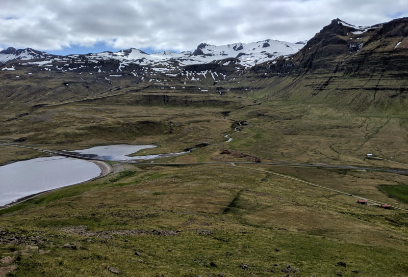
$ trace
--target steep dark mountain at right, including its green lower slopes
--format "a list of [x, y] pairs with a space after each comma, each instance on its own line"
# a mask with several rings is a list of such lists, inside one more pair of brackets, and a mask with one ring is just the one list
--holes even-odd
[[404, 112], [408, 88], [408, 18], [370, 27], [335, 19], [299, 52], [245, 75], [267, 98], [331, 103], [361, 112]]

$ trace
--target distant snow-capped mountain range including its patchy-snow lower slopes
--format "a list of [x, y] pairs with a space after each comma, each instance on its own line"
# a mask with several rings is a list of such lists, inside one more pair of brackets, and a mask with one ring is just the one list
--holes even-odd
[[[25, 69], [36, 72], [75, 72], [101, 75], [104, 78], [133, 76], [154, 80], [156, 75], [179, 76], [185, 80], [212, 81], [225, 79], [233, 72], [252, 67], [277, 57], [296, 53], [304, 42], [289, 43], [264, 40], [221, 46], [201, 43], [194, 51], [163, 51], [148, 54], [136, 48], [118, 52], [100, 52], [56, 56], [31, 48], [0, 51], [1, 71]], [[27, 60], [21, 62], [22, 60]], [[200, 79], [201, 78], [201, 79]], [[211, 80], [208, 80], [211, 82]]]

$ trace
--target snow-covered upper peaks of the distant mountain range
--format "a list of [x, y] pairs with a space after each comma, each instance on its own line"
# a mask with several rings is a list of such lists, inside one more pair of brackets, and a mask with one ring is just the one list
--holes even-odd
[[31, 48], [18, 49], [9, 47], [0, 51], [0, 63], [5, 63], [11, 60], [34, 60], [34, 59], [49, 59], [49, 60], [84, 60], [100, 61], [100, 60], [118, 60], [126, 63], [134, 63], [141, 66], [157, 64], [159, 62], [168, 62], [168, 60], [176, 61], [179, 66], [192, 64], [210, 63], [215, 60], [223, 60], [226, 58], [238, 58], [242, 66], [249, 67], [268, 60], [272, 60], [279, 56], [287, 56], [301, 49], [306, 42], [289, 43], [277, 40], [264, 40], [252, 43], [234, 43], [221, 46], [209, 45], [201, 43], [193, 51], [184, 51], [175, 53], [171, 51], [163, 51], [158, 53], [147, 54], [139, 49], [130, 48], [120, 50], [118, 52], [101, 52], [89, 53], [86, 55], [68, 55], [55, 56], [46, 52], [37, 51]]

